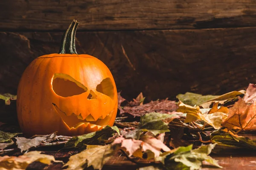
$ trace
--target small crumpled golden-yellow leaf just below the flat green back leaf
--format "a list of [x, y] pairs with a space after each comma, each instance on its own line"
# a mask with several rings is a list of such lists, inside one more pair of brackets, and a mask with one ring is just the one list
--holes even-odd
[[198, 113], [201, 113], [199, 106], [192, 107], [179, 101], [178, 107], [179, 108], [177, 109], [177, 112], [183, 112], [187, 114], [184, 123], [201, 120], [198, 115]]

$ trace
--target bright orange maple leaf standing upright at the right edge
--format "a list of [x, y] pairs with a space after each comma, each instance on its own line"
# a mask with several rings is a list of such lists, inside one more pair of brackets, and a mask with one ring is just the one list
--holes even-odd
[[222, 123], [222, 126], [228, 130], [253, 130], [256, 128], [256, 103], [250, 106], [245, 103], [242, 98], [230, 108], [230, 113], [227, 119]]

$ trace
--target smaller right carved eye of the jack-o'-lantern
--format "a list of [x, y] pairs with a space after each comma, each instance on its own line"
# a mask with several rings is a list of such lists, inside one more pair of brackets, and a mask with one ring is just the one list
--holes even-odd
[[114, 98], [114, 86], [110, 78], [105, 78], [96, 87], [97, 92], [103, 93], [104, 95]]

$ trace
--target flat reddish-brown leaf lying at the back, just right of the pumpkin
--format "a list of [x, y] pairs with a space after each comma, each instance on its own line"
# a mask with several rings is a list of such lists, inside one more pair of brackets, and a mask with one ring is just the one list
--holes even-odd
[[160, 112], [160, 113], [169, 113], [173, 112], [177, 109], [177, 104], [175, 101], [169, 101], [167, 99], [160, 101], [151, 101], [147, 104], [143, 104], [140, 106], [129, 107], [125, 106], [123, 111], [125, 113], [129, 113], [133, 116], [143, 116], [148, 112]]

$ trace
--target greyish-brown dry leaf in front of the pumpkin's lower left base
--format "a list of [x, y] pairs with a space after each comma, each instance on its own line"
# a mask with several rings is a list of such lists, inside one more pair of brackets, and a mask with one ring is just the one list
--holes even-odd
[[47, 139], [47, 137], [38, 136], [32, 139], [16, 137], [15, 139], [16, 139], [16, 144], [18, 148], [20, 149], [21, 152], [23, 152], [24, 150], [29, 150], [29, 148], [31, 147], [38, 147], [42, 141]]

